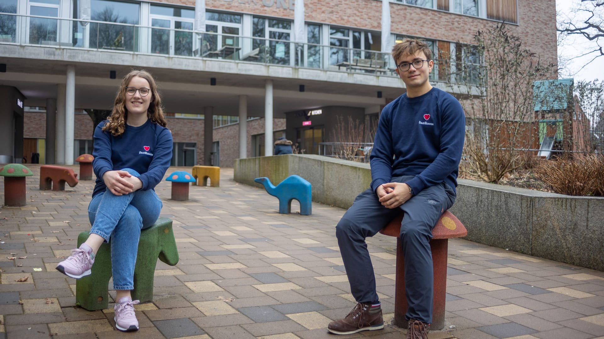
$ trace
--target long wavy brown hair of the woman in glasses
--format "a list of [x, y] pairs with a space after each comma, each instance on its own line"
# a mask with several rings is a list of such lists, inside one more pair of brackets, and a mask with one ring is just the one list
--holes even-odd
[[151, 103], [147, 110], [147, 118], [151, 119], [151, 122], [160, 125], [161, 127], [166, 126], [164, 119], [164, 110], [161, 107], [161, 98], [157, 90], [157, 85], [153, 76], [143, 69], [132, 71], [121, 80], [120, 88], [117, 90], [115, 95], [115, 103], [111, 115], [107, 122], [103, 126], [103, 131], [110, 131], [113, 136], [120, 136], [126, 129], [126, 119], [128, 117], [128, 111], [126, 110], [126, 87], [130, 83], [133, 77], [140, 77], [147, 80], [149, 87], [151, 87]]

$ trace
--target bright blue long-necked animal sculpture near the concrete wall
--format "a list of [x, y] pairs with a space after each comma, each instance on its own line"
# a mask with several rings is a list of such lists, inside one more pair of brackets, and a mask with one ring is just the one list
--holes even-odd
[[267, 177], [256, 178], [255, 182], [265, 186], [268, 194], [279, 199], [279, 213], [288, 214], [292, 210], [292, 200], [300, 203], [300, 214], [312, 213], [312, 186], [300, 176], [289, 176], [274, 186]]

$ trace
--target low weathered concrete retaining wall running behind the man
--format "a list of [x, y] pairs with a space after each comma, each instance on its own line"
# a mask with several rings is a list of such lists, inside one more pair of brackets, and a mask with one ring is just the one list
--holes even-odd
[[[368, 164], [307, 154], [235, 160], [234, 179], [262, 187], [297, 174], [312, 184], [312, 200], [347, 209], [369, 187]], [[531, 189], [458, 180], [451, 208], [465, 239], [604, 271], [604, 198], [570, 197]]]

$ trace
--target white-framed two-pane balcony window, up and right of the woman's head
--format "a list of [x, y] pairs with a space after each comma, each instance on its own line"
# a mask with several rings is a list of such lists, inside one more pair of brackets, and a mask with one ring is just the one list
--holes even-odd
[[193, 55], [194, 10], [151, 5], [150, 19], [152, 53]]

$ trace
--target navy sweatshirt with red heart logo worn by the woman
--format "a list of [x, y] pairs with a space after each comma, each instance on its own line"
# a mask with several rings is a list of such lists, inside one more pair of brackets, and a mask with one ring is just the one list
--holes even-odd
[[126, 124], [121, 136], [113, 136], [103, 131], [103, 121], [94, 130], [94, 150], [92, 151], [92, 170], [97, 182], [92, 197], [106, 191], [103, 174], [132, 168], [141, 174], [138, 179], [143, 183], [141, 190], [153, 189], [164, 179], [165, 171], [172, 160], [172, 133], [165, 127], [147, 119], [143, 125], [133, 127]]

